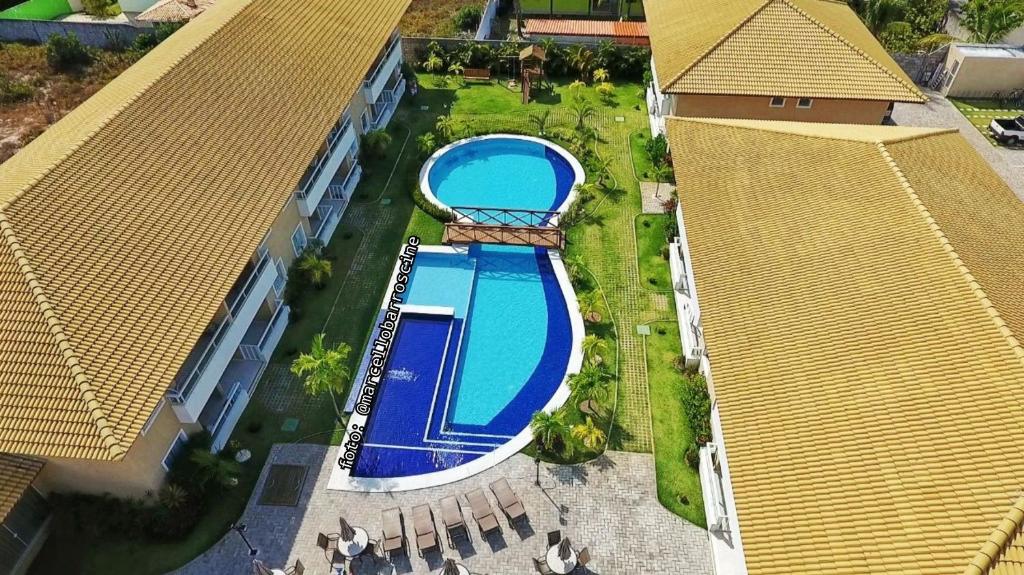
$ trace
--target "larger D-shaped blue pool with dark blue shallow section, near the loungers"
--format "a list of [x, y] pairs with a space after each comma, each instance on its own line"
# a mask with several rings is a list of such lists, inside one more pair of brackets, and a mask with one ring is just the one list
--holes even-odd
[[504, 445], [561, 386], [572, 330], [546, 250], [421, 252], [351, 476], [429, 474]]

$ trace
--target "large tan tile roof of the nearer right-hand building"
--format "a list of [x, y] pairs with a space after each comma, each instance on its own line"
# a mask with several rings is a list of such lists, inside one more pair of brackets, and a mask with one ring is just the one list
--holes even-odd
[[963, 573], [1024, 486], [1020, 202], [954, 131], [669, 137], [752, 575]]

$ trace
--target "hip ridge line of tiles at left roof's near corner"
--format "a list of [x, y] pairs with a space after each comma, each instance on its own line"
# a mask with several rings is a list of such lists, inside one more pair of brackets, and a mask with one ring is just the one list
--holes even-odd
[[112, 459], [121, 459], [125, 456], [127, 450], [121, 445], [117, 437], [115, 437], [114, 425], [108, 419], [96, 392], [92, 389], [89, 377], [86, 374], [85, 368], [80, 364], [78, 355], [72, 349], [70, 339], [65, 334], [63, 323], [57, 317], [53, 304], [50, 303], [49, 298], [46, 296], [46, 292], [43, 290], [43, 285], [40, 283], [32, 267], [32, 262], [29, 261], [20, 241], [17, 239], [17, 235], [14, 233], [13, 225], [11, 225], [7, 214], [3, 211], [0, 211], [0, 234], [3, 235], [4, 244], [14, 257], [17, 267], [25, 277], [29, 290], [32, 292], [36, 305], [43, 314], [43, 319], [46, 321], [50, 335], [53, 337], [53, 343], [56, 345], [65, 364], [71, 371], [75, 384], [78, 386], [79, 397], [88, 412], [88, 417], [96, 426], [100, 445], [108, 450]]

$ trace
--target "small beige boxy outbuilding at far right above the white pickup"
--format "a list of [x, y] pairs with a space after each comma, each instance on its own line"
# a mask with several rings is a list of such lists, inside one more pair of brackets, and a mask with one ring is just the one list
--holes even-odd
[[[985, 50], [998, 52], [999, 48], [991, 46]], [[1024, 89], [1024, 57], [1012, 57], [1009, 53], [1008, 50], [1007, 57], [976, 56], [953, 45], [946, 58], [942, 92], [952, 97], [984, 98]], [[956, 75], [950, 78], [954, 67]]]

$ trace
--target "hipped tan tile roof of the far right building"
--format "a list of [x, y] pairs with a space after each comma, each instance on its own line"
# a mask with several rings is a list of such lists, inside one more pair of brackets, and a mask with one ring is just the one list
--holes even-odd
[[663, 92], [925, 101], [845, 2], [646, 0]]

